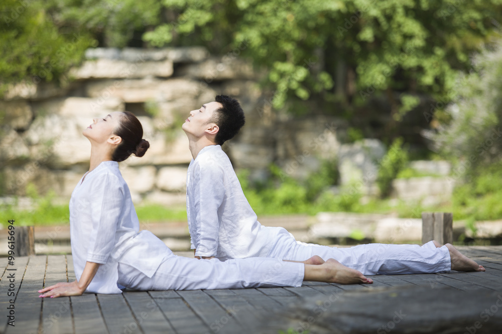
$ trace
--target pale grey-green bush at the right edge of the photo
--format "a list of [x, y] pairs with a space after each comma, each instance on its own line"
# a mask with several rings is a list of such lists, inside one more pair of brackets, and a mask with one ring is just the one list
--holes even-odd
[[441, 153], [456, 162], [456, 178], [497, 163], [502, 156], [502, 43], [474, 58], [476, 71], [460, 74], [453, 90], [454, 104], [438, 134]]

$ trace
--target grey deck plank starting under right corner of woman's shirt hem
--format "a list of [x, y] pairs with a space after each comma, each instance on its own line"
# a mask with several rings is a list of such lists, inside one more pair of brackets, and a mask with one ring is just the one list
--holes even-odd
[[122, 294], [97, 294], [104, 322], [110, 333], [141, 333]]

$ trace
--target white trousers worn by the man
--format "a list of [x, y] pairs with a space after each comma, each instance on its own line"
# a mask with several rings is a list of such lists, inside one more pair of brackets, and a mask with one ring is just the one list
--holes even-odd
[[348, 248], [321, 246], [296, 241], [291, 233], [281, 230], [267, 257], [304, 261], [314, 255], [334, 258], [363, 275], [432, 273], [451, 270], [446, 246], [436, 248], [432, 241], [419, 245], [370, 243]]

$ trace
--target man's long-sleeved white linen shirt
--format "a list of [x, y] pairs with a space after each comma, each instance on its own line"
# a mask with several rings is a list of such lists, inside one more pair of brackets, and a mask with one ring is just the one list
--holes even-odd
[[280, 227], [262, 226], [220, 145], [200, 150], [187, 173], [187, 217], [195, 255], [266, 257]]

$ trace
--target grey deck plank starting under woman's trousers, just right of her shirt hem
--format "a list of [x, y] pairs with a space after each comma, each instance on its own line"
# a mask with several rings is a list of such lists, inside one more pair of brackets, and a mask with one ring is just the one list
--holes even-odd
[[148, 292], [136, 291], [123, 292], [122, 294], [136, 319], [136, 321], [131, 320], [128, 326], [135, 328], [138, 323], [145, 333], [174, 333], [168, 319]]

